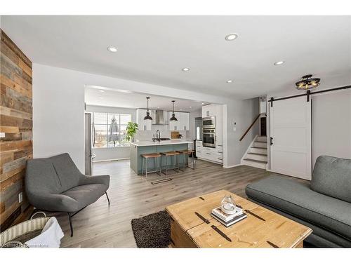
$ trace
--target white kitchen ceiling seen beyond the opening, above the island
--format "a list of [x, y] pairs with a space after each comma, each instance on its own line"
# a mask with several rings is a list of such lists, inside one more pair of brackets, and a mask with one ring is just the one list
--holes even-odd
[[[99, 90], [104, 90], [100, 92]], [[105, 107], [122, 107], [122, 108], [146, 108], [147, 100], [146, 97], [150, 97], [149, 107], [150, 109], [172, 109], [172, 100], [174, 102], [174, 109], [181, 112], [193, 112], [194, 110], [200, 109], [201, 106], [207, 104], [206, 102], [195, 102], [192, 100], [178, 100], [171, 97], [162, 97], [155, 95], [139, 94], [139, 93], [126, 93], [118, 92], [108, 88], [102, 88], [97, 86], [88, 86], [85, 91], [85, 102], [88, 105], [98, 105]]]

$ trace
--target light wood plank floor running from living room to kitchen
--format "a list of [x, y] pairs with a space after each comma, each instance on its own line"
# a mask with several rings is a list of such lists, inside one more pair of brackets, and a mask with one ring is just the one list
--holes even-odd
[[168, 173], [161, 178], [173, 180], [161, 184], [157, 174], [135, 175], [129, 161], [95, 163], [94, 175], [110, 175], [110, 189], [106, 196], [84, 208], [73, 217], [74, 236], [69, 235], [66, 214], [56, 215], [65, 232], [62, 247], [73, 248], [133, 248], [135, 241], [131, 220], [164, 210], [167, 205], [211, 191], [226, 189], [245, 196], [246, 184], [270, 175], [269, 172], [249, 166], [225, 169], [206, 161], [197, 161], [196, 170], [187, 168], [184, 173]]

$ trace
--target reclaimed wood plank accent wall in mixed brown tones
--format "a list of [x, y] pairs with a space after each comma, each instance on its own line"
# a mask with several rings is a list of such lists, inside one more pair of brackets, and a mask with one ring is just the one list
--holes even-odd
[[[0, 29], [0, 231], [25, 218], [25, 166], [32, 159], [32, 62]], [[23, 201], [18, 194], [23, 192]]]

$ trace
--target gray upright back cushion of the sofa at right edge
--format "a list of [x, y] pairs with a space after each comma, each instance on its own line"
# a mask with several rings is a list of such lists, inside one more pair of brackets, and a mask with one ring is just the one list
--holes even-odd
[[314, 165], [311, 189], [351, 203], [351, 160], [319, 156]]

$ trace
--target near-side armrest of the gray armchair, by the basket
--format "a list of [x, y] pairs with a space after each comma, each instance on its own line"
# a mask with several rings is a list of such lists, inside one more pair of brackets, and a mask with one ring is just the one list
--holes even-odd
[[29, 203], [39, 210], [52, 212], [75, 212], [78, 202], [64, 194], [27, 193]]

